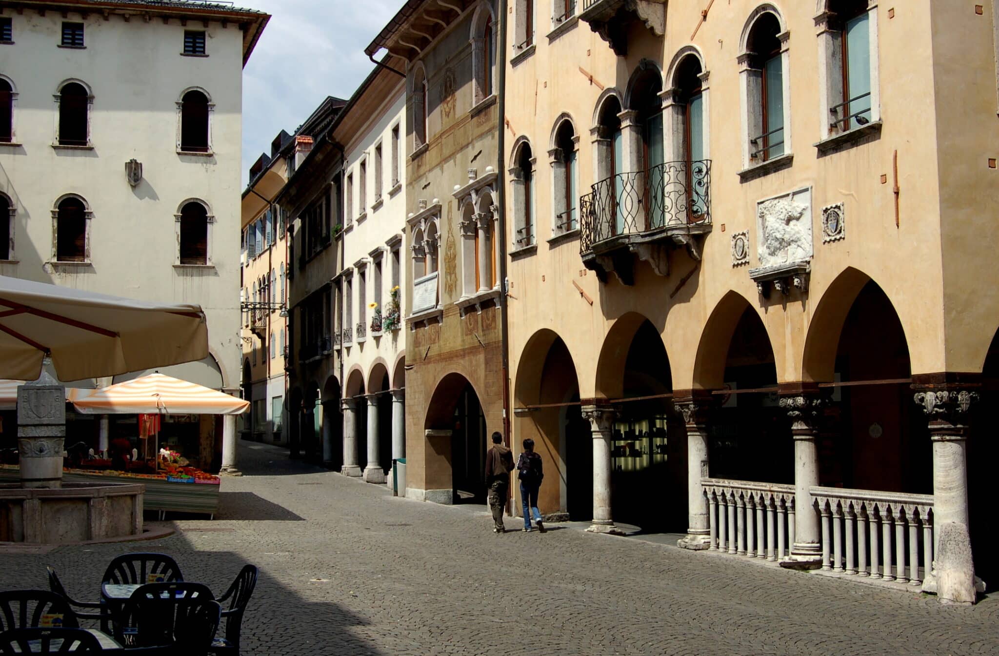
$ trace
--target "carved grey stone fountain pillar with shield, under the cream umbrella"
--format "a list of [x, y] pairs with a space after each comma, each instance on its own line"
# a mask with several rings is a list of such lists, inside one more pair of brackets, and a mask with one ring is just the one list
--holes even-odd
[[21, 486], [43, 489], [62, 487], [66, 389], [49, 375], [44, 366], [37, 380], [17, 388], [17, 437], [21, 456]]

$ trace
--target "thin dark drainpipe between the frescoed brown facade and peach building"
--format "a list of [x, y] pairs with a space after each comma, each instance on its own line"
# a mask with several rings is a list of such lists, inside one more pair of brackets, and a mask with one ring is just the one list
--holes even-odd
[[502, 427], [503, 443], [509, 446], [510, 443], [510, 416], [509, 416], [509, 329], [507, 328], [506, 293], [508, 292], [506, 281], [506, 168], [503, 166], [503, 152], [506, 149], [506, 127], [503, 119], [506, 116], [506, 0], [498, 0], [498, 14], [500, 17], [500, 36], [497, 43], [497, 91], [500, 98], [497, 103], [497, 126], [500, 134], [497, 138], [497, 173], [500, 184], [497, 185], [497, 208], [500, 216], [497, 235], [500, 236], [500, 335], [502, 339]]

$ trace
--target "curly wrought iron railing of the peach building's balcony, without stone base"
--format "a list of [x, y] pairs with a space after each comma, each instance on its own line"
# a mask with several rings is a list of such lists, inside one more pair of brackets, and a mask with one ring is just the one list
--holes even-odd
[[580, 253], [617, 237], [711, 223], [711, 162], [665, 162], [620, 173], [579, 199]]

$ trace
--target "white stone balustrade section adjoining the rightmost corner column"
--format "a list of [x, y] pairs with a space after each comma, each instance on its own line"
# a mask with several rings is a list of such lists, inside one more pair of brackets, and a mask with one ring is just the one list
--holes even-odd
[[932, 494], [812, 487], [811, 495], [822, 517], [822, 569], [912, 585], [930, 571]]

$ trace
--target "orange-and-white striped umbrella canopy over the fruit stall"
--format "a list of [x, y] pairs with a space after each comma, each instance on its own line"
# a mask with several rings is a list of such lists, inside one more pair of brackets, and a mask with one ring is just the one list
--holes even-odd
[[73, 401], [84, 414], [242, 414], [250, 401], [203, 385], [150, 373]]

